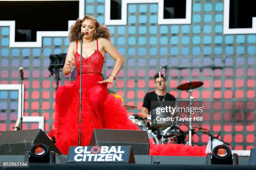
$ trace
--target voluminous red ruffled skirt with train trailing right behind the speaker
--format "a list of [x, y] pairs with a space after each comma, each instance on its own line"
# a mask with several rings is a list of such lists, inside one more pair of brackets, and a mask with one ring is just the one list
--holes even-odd
[[[107, 84], [100, 84], [99, 75], [82, 75], [81, 145], [89, 145], [94, 129], [140, 130], [128, 119], [122, 101], [108, 95]], [[79, 140], [79, 88], [80, 75], [68, 85], [56, 91], [55, 129], [49, 135], [55, 137], [55, 145], [67, 155], [69, 146]], [[178, 144], [156, 145], [150, 139], [150, 155], [205, 156], [205, 147]]]

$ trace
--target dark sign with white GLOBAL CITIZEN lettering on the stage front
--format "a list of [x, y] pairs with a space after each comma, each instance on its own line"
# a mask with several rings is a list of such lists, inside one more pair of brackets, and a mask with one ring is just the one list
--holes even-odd
[[131, 162], [131, 146], [71, 146], [67, 162]]

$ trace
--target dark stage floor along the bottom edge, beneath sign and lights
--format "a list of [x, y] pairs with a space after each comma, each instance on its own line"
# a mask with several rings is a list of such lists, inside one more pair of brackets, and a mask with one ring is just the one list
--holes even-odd
[[[239, 165], [206, 165], [206, 157], [189, 156], [151, 156], [135, 155], [136, 165], [117, 163], [65, 163], [67, 155], [56, 157], [56, 164], [29, 164], [29, 168], [35, 170], [50, 169], [88, 169], [88, 170], [255, 170], [256, 166], [248, 165], [249, 157], [238, 157]], [[0, 163], [3, 162], [24, 162], [24, 155], [0, 155]]]

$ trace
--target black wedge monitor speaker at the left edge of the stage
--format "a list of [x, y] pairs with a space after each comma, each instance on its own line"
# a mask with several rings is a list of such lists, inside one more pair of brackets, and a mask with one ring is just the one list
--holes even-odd
[[0, 132], [0, 155], [25, 155], [37, 143], [43, 143], [50, 151], [61, 155], [41, 129]]

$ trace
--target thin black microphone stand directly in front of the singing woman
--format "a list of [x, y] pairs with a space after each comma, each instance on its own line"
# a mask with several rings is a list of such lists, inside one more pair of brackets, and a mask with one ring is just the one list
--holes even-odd
[[79, 142], [78, 145], [81, 146], [81, 108], [82, 108], [82, 47], [83, 47], [83, 37], [80, 38], [80, 89], [79, 89]]

